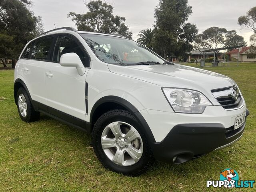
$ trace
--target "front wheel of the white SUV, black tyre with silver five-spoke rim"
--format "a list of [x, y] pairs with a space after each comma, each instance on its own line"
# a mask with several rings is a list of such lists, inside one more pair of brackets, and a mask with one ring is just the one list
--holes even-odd
[[[120, 128], [122, 136], [118, 136], [118, 131], [113, 134], [114, 127]], [[131, 141], [133, 138], [136, 139]], [[92, 146], [104, 167], [124, 175], [140, 175], [154, 163], [141, 125], [127, 110], [110, 110], [98, 118], [92, 130]], [[124, 158], [115, 158], [118, 156]]]

